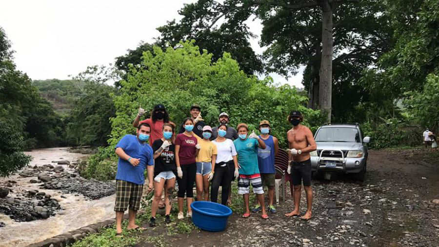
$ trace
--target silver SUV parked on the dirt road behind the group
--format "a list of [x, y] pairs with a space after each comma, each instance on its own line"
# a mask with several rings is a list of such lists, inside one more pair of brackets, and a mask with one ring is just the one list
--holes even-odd
[[326, 124], [317, 129], [314, 139], [317, 150], [310, 153], [316, 177], [334, 172], [353, 173], [364, 180], [367, 167], [367, 146], [370, 137], [362, 138], [358, 123]]

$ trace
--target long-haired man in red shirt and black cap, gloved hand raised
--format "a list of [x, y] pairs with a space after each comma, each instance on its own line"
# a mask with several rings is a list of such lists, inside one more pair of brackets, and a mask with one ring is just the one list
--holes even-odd
[[137, 127], [141, 123], [148, 123], [149, 126], [151, 126], [150, 145], [152, 145], [155, 140], [163, 137], [163, 123], [170, 123], [175, 126], [175, 123], [169, 121], [168, 112], [162, 104], [156, 104], [154, 106], [154, 109], [151, 111], [151, 118], [139, 122], [143, 114], [145, 114], [145, 110], [139, 107], [139, 113], [133, 122], [133, 126]]

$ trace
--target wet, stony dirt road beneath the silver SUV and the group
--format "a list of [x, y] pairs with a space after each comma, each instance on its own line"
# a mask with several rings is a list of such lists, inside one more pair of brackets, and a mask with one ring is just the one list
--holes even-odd
[[[439, 152], [370, 151], [364, 183], [340, 177], [313, 181], [313, 218], [286, 218], [292, 200], [262, 220], [234, 213], [224, 232], [169, 235], [163, 218], [142, 233], [144, 246], [439, 246]], [[289, 191], [288, 191], [289, 194]], [[302, 199], [304, 194], [302, 193]], [[301, 202], [305, 211], [305, 201]], [[146, 222], [145, 222], [146, 226]], [[169, 227], [169, 226], [168, 226]]]

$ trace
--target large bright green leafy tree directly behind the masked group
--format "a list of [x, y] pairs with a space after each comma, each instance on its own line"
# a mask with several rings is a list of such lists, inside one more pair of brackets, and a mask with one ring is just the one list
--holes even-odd
[[221, 111], [230, 114], [232, 126], [257, 126], [260, 120], [267, 119], [273, 123], [281, 144], [285, 144], [290, 127], [286, 116], [291, 109], [301, 110], [308, 120], [318, 119], [319, 112], [305, 108], [307, 99], [299, 96], [295, 88], [277, 87], [271, 81], [247, 76], [228, 53], [212, 63], [212, 54], [200, 53], [194, 41], [180, 42], [180, 48], [168, 47], [165, 52], [154, 47], [154, 52], [144, 52], [142, 66], [132, 66], [128, 79], [120, 82], [120, 95], [114, 97], [116, 118], [111, 120], [112, 146], [124, 135], [134, 133], [131, 123], [139, 106], [152, 109], [157, 103], [166, 106], [175, 123], [188, 115], [192, 103], [201, 106], [203, 119], [211, 125], [218, 124]]

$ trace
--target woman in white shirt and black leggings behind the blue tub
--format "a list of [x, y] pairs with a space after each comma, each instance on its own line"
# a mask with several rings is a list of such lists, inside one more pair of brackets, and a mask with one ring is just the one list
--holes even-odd
[[[228, 165], [235, 165], [235, 177], [238, 173], [238, 160], [236, 158], [235, 144], [230, 139], [225, 138], [227, 133], [227, 125], [220, 124], [218, 127], [217, 139], [213, 141], [217, 145], [217, 159], [215, 164], [212, 164], [212, 187], [210, 190], [210, 200], [214, 203], [218, 200], [218, 189], [222, 186], [221, 204], [227, 206], [227, 199], [229, 198], [229, 188], [232, 183], [232, 177]], [[211, 175], [212, 175], [211, 174]], [[211, 177], [210, 175], [210, 177]]]

